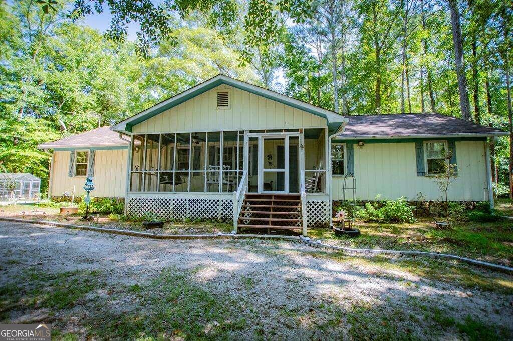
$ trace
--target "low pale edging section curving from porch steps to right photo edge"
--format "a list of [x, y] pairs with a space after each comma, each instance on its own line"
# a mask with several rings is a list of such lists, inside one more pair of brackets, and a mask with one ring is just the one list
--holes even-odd
[[405, 255], [405, 256], [419, 256], [419, 257], [428, 257], [428, 258], [438, 258], [438, 259], [451, 259], [455, 261], [460, 261], [463, 263], [468, 263], [471, 265], [481, 266], [485, 268], [490, 268], [494, 270], [504, 271], [508, 273], [513, 273], [513, 268], [508, 266], [481, 262], [470, 258], [459, 257], [453, 254], [445, 254], [445, 253], [435, 253], [435, 252], [423, 252], [423, 251], [397, 251], [397, 250], [372, 250], [372, 249], [351, 249], [348, 247], [340, 247], [340, 246], [332, 246], [323, 244], [320, 240], [317, 242], [311, 241], [309, 238], [305, 238], [303, 236], [300, 237], [303, 244], [319, 249], [331, 249], [337, 251], [343, 251], [346, 253], [352, 254], [394, 254], [394, 255]]

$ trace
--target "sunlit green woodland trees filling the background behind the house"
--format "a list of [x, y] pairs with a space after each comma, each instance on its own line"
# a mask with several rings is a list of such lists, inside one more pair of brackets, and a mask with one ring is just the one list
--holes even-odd
[[[104, 33], [83, 19], [103, 11]], [[126, 39], [132, 22], [136, 41]], [[504, 0], [2, 2], [0, 164], [46, 179], [38, 143], [218, 73], [341, 115], [436, 112], [513, 131], [512, 41]], [[493, 151], [502, 191], [510, 148], [500, 138]]]

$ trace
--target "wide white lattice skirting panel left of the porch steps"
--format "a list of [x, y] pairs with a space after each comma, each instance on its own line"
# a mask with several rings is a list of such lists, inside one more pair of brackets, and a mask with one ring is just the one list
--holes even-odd
[[130, 198], [127, 215], [142, 217], [151, 212], [163, 220], [206, 219], [233, 221], [233, 200], [198, 198]]

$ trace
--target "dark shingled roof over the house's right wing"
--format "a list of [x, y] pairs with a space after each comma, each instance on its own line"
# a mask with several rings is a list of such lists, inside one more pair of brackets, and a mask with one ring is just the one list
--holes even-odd
[[507, 132], [440, 114], [391, 114], [348, 116], [349, 123], [337, 140], [494, 137]]

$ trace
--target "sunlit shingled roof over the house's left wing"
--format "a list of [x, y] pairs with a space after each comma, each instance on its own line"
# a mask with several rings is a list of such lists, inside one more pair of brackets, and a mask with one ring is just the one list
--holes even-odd
[[81, 148], [81, 147], [128, 147], [128, 141], [122, 140], [120, 134], [102, 126], [82, 134], [72, 135], [62, 140], [42, 143], [40, 149]]

